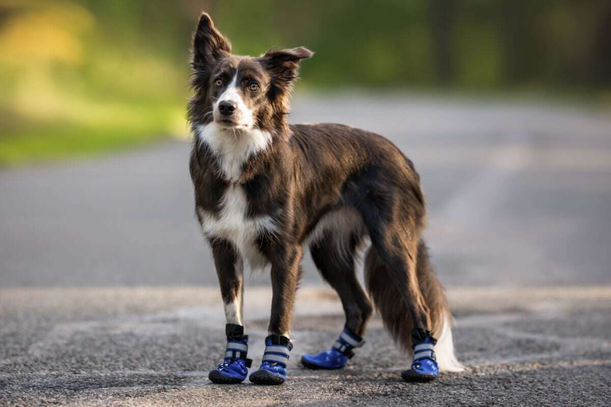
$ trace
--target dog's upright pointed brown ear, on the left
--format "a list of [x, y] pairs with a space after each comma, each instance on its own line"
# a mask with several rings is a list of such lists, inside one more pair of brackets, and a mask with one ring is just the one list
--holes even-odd
[[214, 27], [208, 13], [202, 13], [193, 37], [194, 68], [216, 62], [219, 58], [231, 54], [231, 43]]

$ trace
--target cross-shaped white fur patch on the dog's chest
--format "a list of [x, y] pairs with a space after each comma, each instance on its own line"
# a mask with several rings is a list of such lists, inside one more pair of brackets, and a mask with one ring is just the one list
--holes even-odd
[[240, 184], [230, 184], [221, 201], [218, 215], [197, 207], [202, 219], [202, 232], [209, 239], [225, 239], [231, 242], [243, 260], [251, 267], [263, 268], [267, 263], [258, 250], [258, 236], [274, 235], [277, 226], [268, 215], [246, 217], [248, 202]]

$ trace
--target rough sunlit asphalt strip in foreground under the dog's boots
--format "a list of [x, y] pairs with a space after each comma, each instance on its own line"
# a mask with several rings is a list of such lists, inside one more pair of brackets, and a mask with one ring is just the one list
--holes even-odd
[[[305, 287], [282, 387], [221, 386], [216, 288], [0, 290], [0, 405], [73, 406], [608, 406], [611, 289], [450, 288], [465, 373], [401, 381], [407, 361], [373, 320], [349, 367], [299, 366], [343, 325], [331, 292]], [[249, 353], [263, 353], [271, 292], [246, 292]], [[425, 403], [423, 403], [425, 401]], [[422, 404], [423, 403], [423, 404]]]

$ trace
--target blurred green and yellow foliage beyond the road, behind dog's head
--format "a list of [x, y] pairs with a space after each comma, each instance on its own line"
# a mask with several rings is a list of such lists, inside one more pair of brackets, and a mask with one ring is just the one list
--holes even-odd
[[607, 0], [0, 0], [0, 165], [186, 134], [202, 8], [238, 54], [315, 51], [299, 88], [611, 88]]

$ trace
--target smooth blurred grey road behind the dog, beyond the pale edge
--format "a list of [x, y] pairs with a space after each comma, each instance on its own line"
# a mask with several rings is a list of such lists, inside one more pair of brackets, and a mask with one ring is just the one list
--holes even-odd
[[[446, 284], [611, 283], [609, 115], [364, 95], [302, 97], [293, 111], [387, 135], [414, 160]], [[216, 284], [188, 154], [177, 141], [0, 171], [0, 286]], [[306, 265], [305, 282], [320, 284]]]

